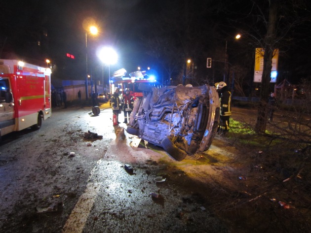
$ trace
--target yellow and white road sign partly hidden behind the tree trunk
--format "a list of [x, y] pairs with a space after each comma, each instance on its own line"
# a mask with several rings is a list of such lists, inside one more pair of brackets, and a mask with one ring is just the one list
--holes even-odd
[[[254, 71], [254, 82], [261, 82], [264, 69], [264, 54], [265, 50], [263, 48], [255, 49], [255, 71]], [[277, 72], [277, 61], [278, 61], [278, 49], [274, 49], [272, 57], [272, 69], [271, 69], [271, 83], [276, 82], [276, 72]]]

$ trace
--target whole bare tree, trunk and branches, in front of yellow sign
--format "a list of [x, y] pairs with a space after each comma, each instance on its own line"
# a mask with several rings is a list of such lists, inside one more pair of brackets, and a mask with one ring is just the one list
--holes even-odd
[[[272, 57], [275, 49], [288, 49], [300, 35], [292, 33], [299, 26], [310, 22], [306, 0], [253, 0], [249, 11], [238, 20], [248, 44], [263, 48], [263, 74], [260, 88], [256, 132], [265, 132], [267, 103], [271, 90]], [[247, 9], [247, 8], [246, 8]], [[233, 20], [232, 24], [236, 25]], [[255, 49], [254, 49], [255, 50]]]

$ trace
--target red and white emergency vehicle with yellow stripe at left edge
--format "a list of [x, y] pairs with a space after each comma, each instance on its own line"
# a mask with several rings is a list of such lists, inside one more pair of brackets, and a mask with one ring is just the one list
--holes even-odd
[[49, 68], [0, 59], [0, 136], [38, 130], [51, 116], [50, 78]]

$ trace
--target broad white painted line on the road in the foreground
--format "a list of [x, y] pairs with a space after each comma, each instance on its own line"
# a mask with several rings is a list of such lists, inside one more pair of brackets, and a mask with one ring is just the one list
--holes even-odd
[[88, 183], [63, 228], [63, 233], [82, 233], [101, 183]]

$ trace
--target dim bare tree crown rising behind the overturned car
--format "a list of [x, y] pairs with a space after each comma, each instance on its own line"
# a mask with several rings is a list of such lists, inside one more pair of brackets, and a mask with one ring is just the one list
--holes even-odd
[[[161, 14], [150, 24], [152, 30], [144, 34], [148, 54], [168, 72], [169, 79], [182, 83], [183, 76], [187, 76], [187, 81], [201, 83], [205, 80], [206, 58], [215, 47], [211, 42], [216, 34], [214, 22], [207, 21], [215, 14], [215, 6], [190, 0], [164, 4]], [[187, 68], [185, 75], [188, 59], [192, 61], [191, 69]]]

